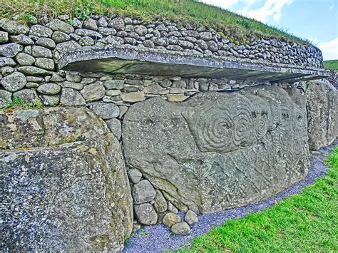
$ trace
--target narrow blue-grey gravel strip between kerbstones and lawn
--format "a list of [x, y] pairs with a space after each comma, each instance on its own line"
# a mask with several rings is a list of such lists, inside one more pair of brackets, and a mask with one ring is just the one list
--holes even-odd
[[[309, 167], [307, 177], [280, 192], [275, 197], [270, 197], [267, 200], [246, 207], [237, 207], [214, 214], [199, 215], [199, 222], [191, 226], [192, 232], [186, 236], [171, 234], [170, 229], [163, 224], [147, 226], [132, 234], [123, 252], [162, 252], [163, 250], [173, 250], [184, 247], [189, 245], [194, 237], [205, 234], [205, 232], [208, 232], [213, 227], [219, 227], [225, 220], [238, 219], [252, 212], [265, 210], [275, 202], [279, 202], [290, 195], [301, 192], [305, 186], [311, 185], [318, 177], [322, 177], [326, 174], [327, 167], [324, 164], [324, 156], [330, 153], [335, 145], [338, 145], [338, 139], [327, 148], [313, 152], [310, 157], [311, 166]], [[180, 213], [180, 215], [183, 217], [182, 213]]]

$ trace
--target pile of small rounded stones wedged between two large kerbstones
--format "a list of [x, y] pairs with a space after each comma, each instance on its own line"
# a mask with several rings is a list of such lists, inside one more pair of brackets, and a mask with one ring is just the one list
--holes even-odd
[[174, 234], [190, 234], [190, 225], [198, 222], [198, 216], [188, 210], [183, 222], [178, 215], [178, 209], [166, 200], [162, 192], [153, 185], [137, 169], [128, 170], [130, 187], [132, 189], [134, 216], [133, 230], [141, 225], [163, 223]]

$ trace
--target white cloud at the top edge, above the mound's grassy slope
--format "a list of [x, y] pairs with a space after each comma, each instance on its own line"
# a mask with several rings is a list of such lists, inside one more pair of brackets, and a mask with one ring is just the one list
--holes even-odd
[[274, 20], [280, 19], [282, 16], [282, 8], [292, 4], [292, 1], [293, 0], [267, 0], [260, 9], [250, 10], [248, 7], [245, 7], [240, 13], [266, 23], [267, 19], [271, 16]]

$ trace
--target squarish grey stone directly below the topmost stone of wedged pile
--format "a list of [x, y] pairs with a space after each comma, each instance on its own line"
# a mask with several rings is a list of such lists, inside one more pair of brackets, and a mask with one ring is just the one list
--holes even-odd
[[135, 204], [142, 204], [154, 200], [156, 192], [148, 180], [141, 180], [133, 187], [133, 199]]

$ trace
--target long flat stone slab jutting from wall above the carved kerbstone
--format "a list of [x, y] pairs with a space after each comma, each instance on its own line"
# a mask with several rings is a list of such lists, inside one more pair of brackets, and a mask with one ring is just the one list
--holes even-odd
[[67, 71], [136, 73], [184, 78], [228, 78], [250, 81], [305, 81], [327, 78], [319, 68], [220, 56], [199, 56], [135, 46], [89, 46], [66, 53], [58, 68]]

